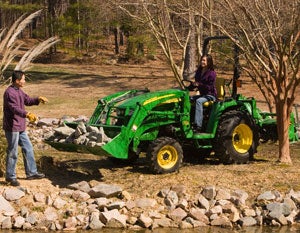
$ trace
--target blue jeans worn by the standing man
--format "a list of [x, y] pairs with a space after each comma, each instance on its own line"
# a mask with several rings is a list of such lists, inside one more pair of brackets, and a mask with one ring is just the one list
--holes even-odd
[[16, 165], [18, 160], [18, 145], [22, 149], [26, 177], [37, 173], [34, 159], [33, 147], [25, 131], [9, 132], [5, 131], [7, 139], [6, 154], [6, 179], [16, 179]]

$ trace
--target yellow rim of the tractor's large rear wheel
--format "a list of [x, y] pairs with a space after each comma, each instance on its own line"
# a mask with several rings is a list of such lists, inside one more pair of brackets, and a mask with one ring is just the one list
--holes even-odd
[[253, 133], [246, 124], [239, 124], [233, 131], [232, 145], [238, 153], [246, 153], [253, 143]]

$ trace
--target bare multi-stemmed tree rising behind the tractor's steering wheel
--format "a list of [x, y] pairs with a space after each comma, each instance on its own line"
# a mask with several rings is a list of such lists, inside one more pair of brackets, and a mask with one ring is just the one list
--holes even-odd
[[[196, 69], [195, 48], [199, 47], [200, 33], [199, 8], [203, 1], [131, 1], [119, 3], [119, 7], [134, 19], [143, 23], [155, 36], [162, 48], [175, 79], [182, 86], [181, 80], [189, 78]], [[197, 9], [197, 10], [195, 10]], [[198, 30], [197, 30], [198, 29]], [[175, 51], [181, 51], [176, 57]], [[198, 53], [200, 49], [196, 50]], [[189, 63], [189, 64], [187, 64]]]

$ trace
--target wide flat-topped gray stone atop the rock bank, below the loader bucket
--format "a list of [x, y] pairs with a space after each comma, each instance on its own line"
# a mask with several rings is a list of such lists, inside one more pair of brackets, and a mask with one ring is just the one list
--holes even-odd
[[97, 197], [117, 197], [122, 192], [122, 189], [117, 185], [98, 184], [91, 188], [89, 195], [93, 198]]

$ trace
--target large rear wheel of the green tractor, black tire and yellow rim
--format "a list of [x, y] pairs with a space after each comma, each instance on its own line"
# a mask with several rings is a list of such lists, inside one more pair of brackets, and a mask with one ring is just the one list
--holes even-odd
[[220, 119], [215, 138], [215, 154], [224, 164], [247, 163], [257, 152], [259, 134], [253, 118], [232, 110]]

